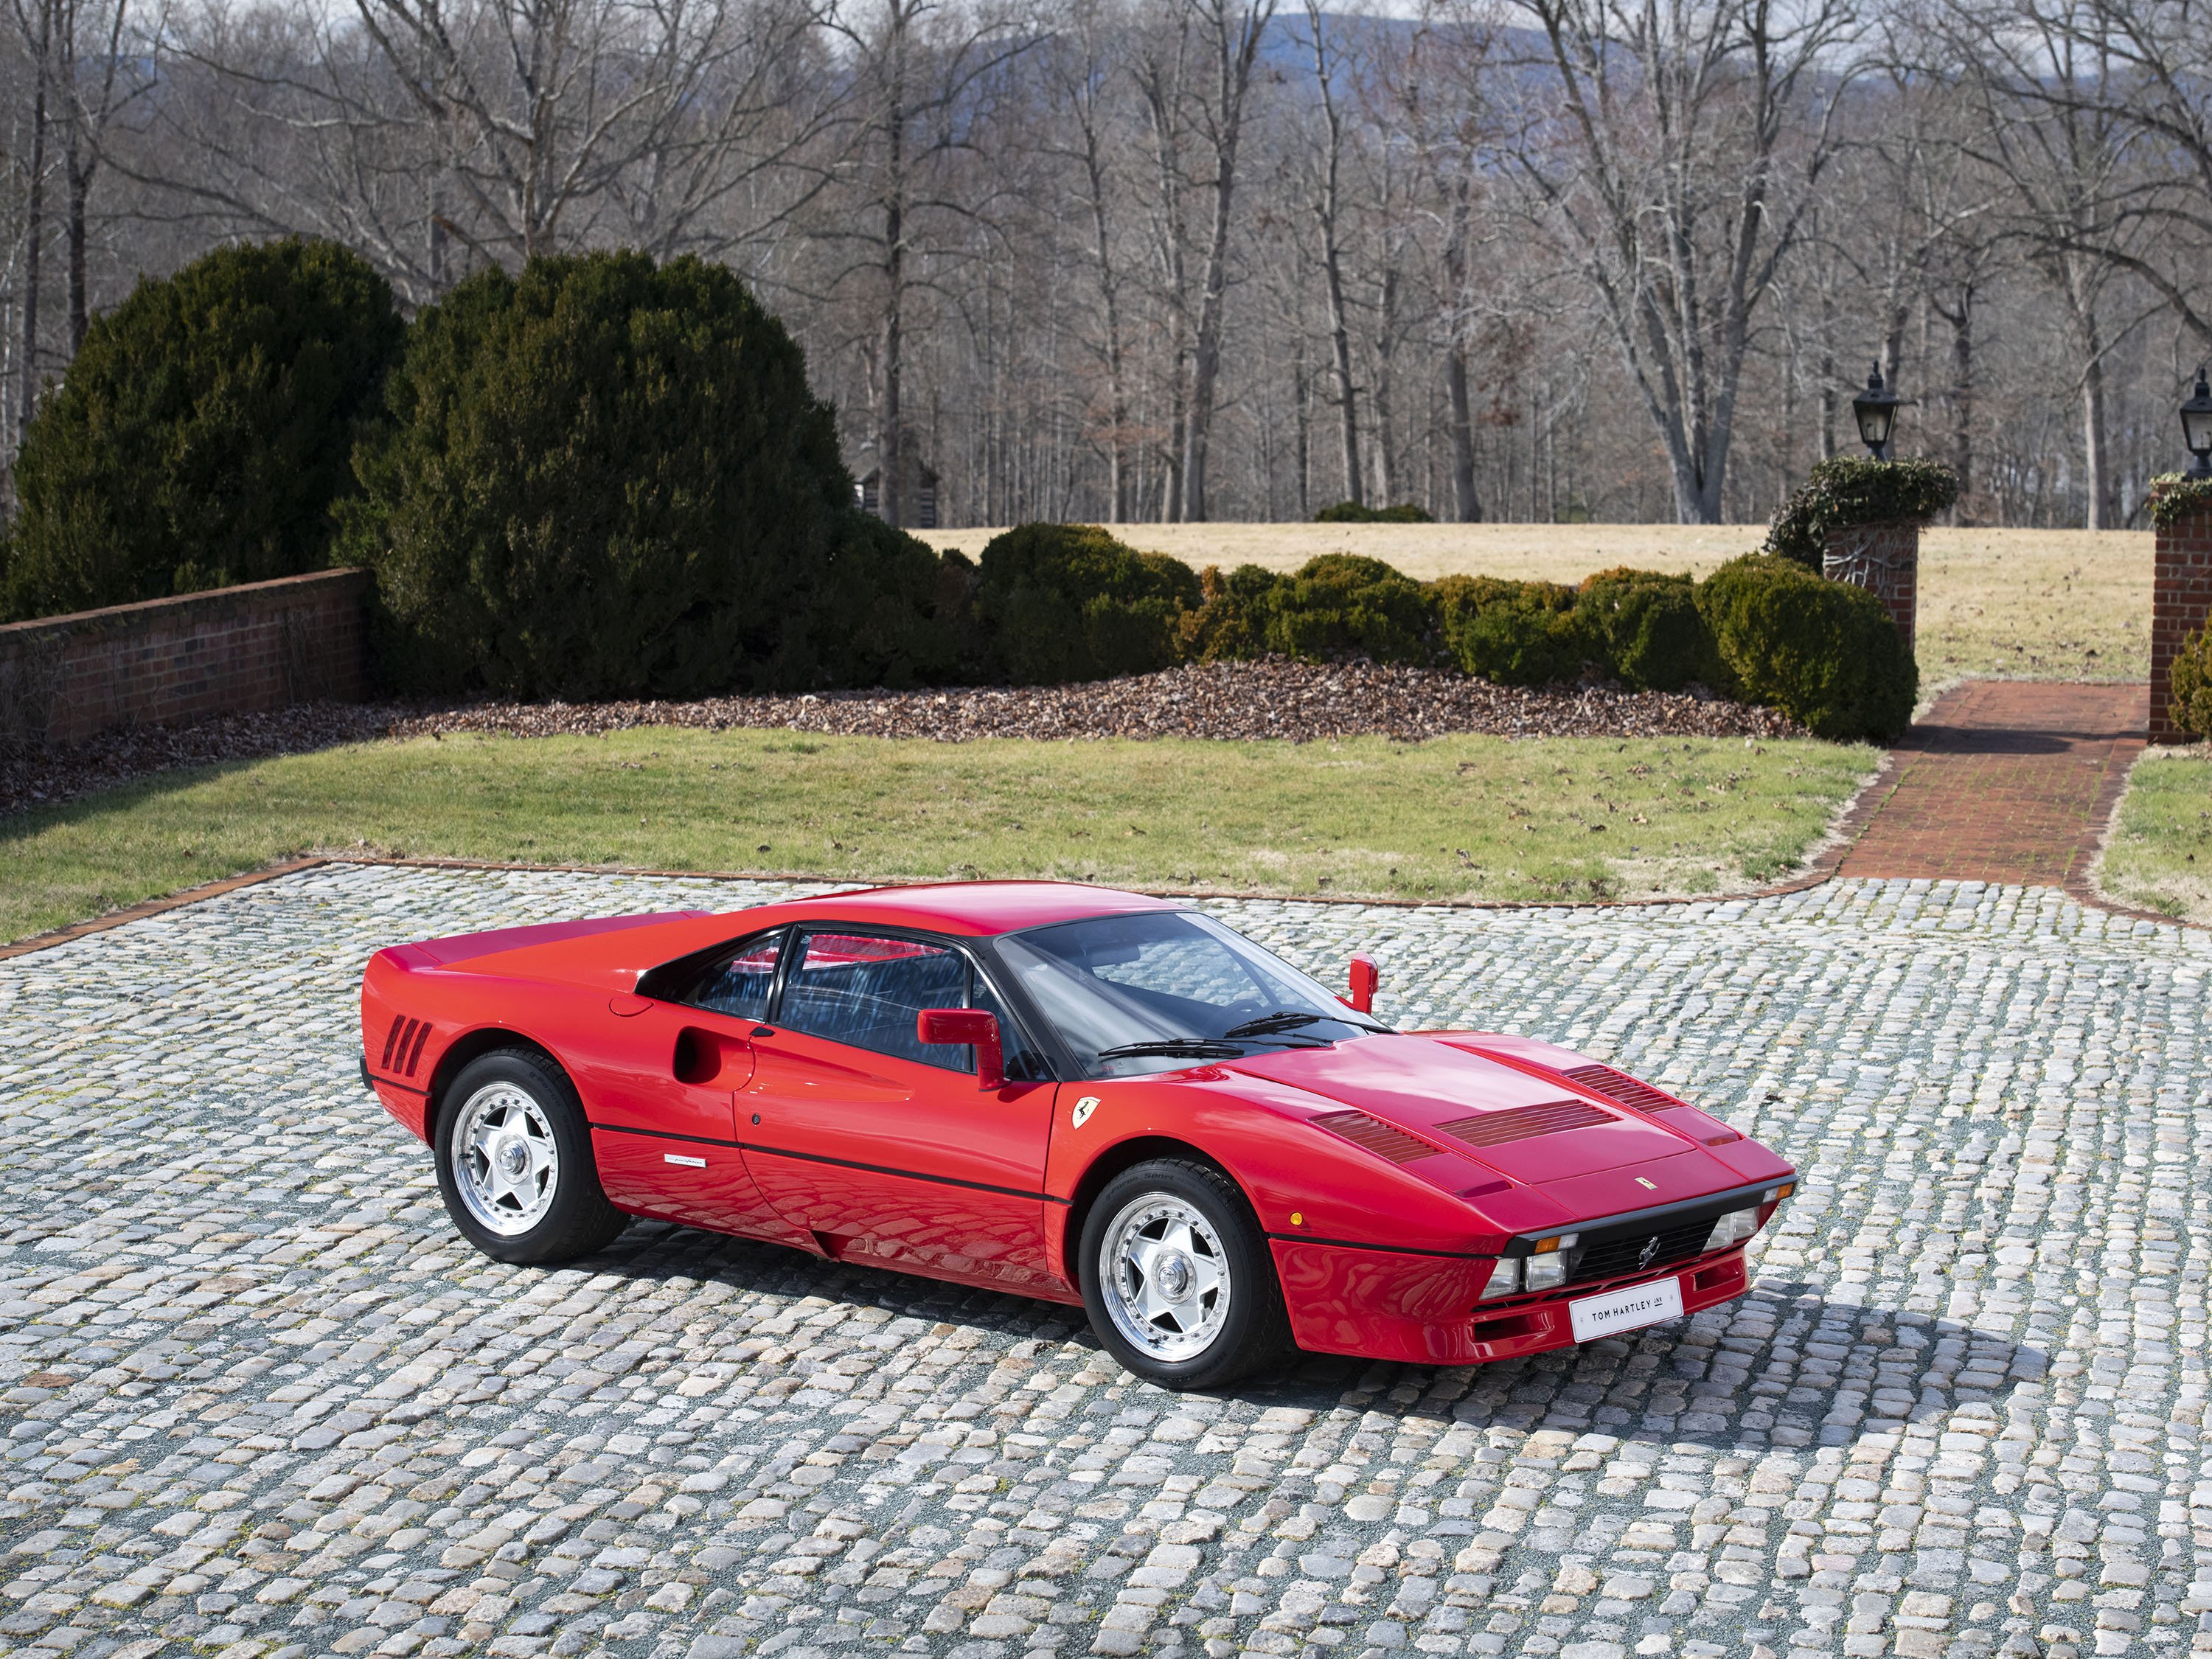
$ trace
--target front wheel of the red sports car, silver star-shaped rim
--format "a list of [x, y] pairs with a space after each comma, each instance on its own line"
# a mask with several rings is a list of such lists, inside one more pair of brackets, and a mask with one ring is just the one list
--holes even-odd
[[[1177, 1248], [1172, 1230], [1190, 1221], [1203, 1225], [1190, 1225], [1188, 1250]], [[1146, 1285], [1135, 1259], [1144, 1248], [1159, 1263], [1161, 1312], [1150, 1321], [1133, 1298]], [[1084, 1214], [1077, 1274], [1099, 1343], [1164, 1389], [1217, 1389], [1290, 1347], [1267, 1239], [1237, 1183], [1210, 1164], [1164, 1157], [1121, 1170]], [[1208, 1301], [1208, 1279], [1225, 1305]]]

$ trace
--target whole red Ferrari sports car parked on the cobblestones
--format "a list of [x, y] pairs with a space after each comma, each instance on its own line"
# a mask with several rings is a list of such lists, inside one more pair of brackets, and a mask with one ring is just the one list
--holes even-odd
[[396, 945], [361, 1064], [500, 1261], [681, 1221], [1082, 1303], [1166, 1387], [1743, 1294], [1790, 1164], [1546, 1042], [1391, 1031], [1374, 989], [1141, 894], [880, 887]]

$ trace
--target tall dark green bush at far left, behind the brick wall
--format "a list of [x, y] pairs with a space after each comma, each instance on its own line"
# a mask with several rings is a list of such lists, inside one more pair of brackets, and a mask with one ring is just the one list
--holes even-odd
[[24, 427], [0, 615], [323, 568], [400, 336], [385, 279], [327, 241], [139, 281]]

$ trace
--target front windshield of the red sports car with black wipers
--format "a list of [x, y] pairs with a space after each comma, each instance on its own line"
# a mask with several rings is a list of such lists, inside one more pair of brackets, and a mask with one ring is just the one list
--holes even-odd
[[1002, 938], [998, 953], [1095, 1077], [1387, 1029], [1192, 911], [1037, 927]]

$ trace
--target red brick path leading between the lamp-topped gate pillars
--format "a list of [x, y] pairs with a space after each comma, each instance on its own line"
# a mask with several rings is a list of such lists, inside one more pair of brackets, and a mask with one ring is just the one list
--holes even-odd
[[1907, 732], [1838, 874], [2075, 887], [2148, 719], [2143, 686], [1966, 681]]

